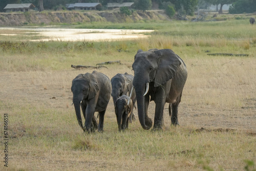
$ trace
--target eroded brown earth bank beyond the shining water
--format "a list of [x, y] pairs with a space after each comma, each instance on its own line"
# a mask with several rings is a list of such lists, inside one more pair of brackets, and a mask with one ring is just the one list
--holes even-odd
[[162, 10], [146, 12], [136, 11], [130, 16], [120, 11], [43, 11], [25, 13], [0, 13], [0, 27], [26, 26], [28, 24], [49, 25], [55, 23], [86, 23], [86, 22], [113, 22], [131, 23], [139, 20], [166, 20], [168, 17]]

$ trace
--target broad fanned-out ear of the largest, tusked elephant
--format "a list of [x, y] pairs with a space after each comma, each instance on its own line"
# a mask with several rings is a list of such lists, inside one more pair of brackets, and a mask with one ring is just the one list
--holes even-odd
[[181, 62], [179, 57], [170, 49], [161, 49], [154, 51], [154, 53], [159, 56], [154, 84], [155, 87], [158, 87], [175, 76]]

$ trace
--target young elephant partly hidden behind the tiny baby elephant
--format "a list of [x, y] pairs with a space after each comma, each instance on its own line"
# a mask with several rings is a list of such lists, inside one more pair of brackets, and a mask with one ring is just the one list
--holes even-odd
[[[124, 74], [116, 74], [113, 78], [111, 78], [111, 86], [112, 86], [112, 92], [111, 96], [113, 98], [114, 106], [116, 109], [116, 100], [118, 97], [122, 95], [130, 96], [132, 87], [133, 87], [133, 75], [124, 73]], [[135, 106], [136, 102], [136, 94], [133, 90], [131, 99], [133, 101], [133, 107]], [[135, 120], [135, 116], [132, 109], [132, 115], [129, 118], [129, 121], [132, 122], [132, 120]]]

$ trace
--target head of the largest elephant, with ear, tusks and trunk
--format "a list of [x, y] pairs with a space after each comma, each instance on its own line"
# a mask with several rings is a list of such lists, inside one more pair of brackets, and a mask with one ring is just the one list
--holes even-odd
[[144, 95], [147, 94], [148, 89], [161, 87], [174, 78], [181, 62], [181, 58], [170, 49], [138, 50], [135, 55], [132, 66], [134, 70], [133, 86], [137, 98], [138, 117], [143, 129], [148, 130], [152, 126], [152, 120], [147, 117]]

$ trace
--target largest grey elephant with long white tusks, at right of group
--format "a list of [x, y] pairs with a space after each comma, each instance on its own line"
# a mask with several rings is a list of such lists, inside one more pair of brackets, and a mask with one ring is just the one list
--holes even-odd
[[[169, 103], [172, 124], [178, 125], [178, 105], [187, 78], [184, 61], [170, 49], [151, 49], [145, 52], [138, 50], [133, 70], [138, 116], [143, 129], [152, 127], [152, 119], [147, 115], [150, 100], [156, 104], [153, 130], [162, 129], [164, 126], [163, 110], [166, 102]], [[147, 82], [149, 90], [143, 96]]]

